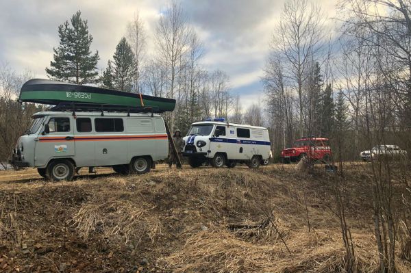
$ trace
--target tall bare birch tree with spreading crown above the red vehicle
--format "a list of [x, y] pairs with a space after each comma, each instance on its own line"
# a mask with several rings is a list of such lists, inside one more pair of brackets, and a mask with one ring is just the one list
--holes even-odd
[[321, 8], [309, 5], [307, 0], [287, 1], [271, 42], [271, 50], [279, 53], [279, 60], [284, 63], [285, 77], [297, 90], [301, 135], [307, 127], [303, 113], [303, 84], [310, 62], [319, 57], [323, 47], [324, 18]]

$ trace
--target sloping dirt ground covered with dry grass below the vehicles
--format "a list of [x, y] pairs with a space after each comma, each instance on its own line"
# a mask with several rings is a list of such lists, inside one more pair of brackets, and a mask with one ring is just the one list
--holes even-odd
[[[294, 167], [98, 168], [59, 183], [0, 172], [0, 272], [344, 272], [335, 176]], [[358, 269], [373, 272], [367, 166], [345, 168]]]

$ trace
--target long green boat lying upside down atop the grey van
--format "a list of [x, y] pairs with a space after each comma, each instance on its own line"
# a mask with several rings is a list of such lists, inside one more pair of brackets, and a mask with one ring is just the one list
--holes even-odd
[[[59, 105], [60, 103], [86, 103], [95, 105], [116, 105], [124, 107], [150, 108], [152, 112], [173, 111], [175, 99], [149, 96], [99, 88], [80, 86], [48, 79], [30, 79], [24, 83], [18, 101]], [[150, 112], [151, 112], [150, 111]]]

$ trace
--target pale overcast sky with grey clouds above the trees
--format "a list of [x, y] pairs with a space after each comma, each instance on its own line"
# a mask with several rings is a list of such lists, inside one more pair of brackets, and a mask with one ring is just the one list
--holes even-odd
[[[182, 0], [190, 24], [204, 44], [201, 61], [208, 70], [221, 69], [230, 77], [234, 94], [243, 107], [262, 101], [260, 77], [269, 52], [273, 28], [285, 0]], [[321, 3], [325, 14], [334, 16], [336, 0]], [[153, 51], [152, 36], [166, 0], [0, 0], [0, 63], [18, 72], [30, 70], [47, 78], [45, 68], [58, 46], [58, 25], [77, 11], [88, 20], [98, 49], [99, 69], [112, 58], [116, 44], [125, 35], [126, 25], [138, 12], [145, 23], [147, 55]]]

